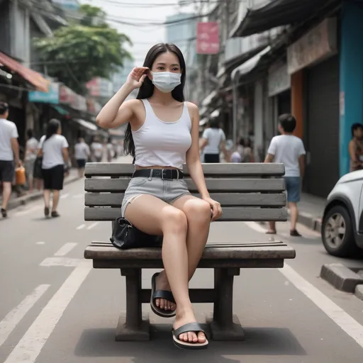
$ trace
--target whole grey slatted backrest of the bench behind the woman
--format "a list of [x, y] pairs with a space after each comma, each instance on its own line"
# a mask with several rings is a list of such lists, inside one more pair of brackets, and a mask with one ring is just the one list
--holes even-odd
[[[284, 164], [202, 164], [211, 197], [223, 207], [223, 221], [287, 219]], [[115, 220], [121, 215], [124, 192], [133, 164], [86, 164], [84, 219]], [[199, 196], [186, 168], [189, 191]]]

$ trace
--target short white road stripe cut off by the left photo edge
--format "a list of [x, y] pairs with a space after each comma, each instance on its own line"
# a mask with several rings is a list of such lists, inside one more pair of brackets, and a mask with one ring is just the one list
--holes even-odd
[[47, 291], [50, 285], [39, 285], [34, 291], [26, 296], [16, 308], [13, 308], [3, 320], [0, 321], [0, 347], [8, 339], [11, 332], [16, 328], [16, 325], [21, 322], [26, 313], [33, 308], [35, 303]]

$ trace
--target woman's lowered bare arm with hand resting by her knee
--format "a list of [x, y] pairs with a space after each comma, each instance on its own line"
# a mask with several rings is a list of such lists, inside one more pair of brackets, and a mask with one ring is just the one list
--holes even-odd
[[199, 155], [199, 110], [198, 106], [188, 103], [191, 115], [191, 147], [186, 152], [186, 166], [188, 167], [191, 179], [196, 184], [201, 198], [207, 201], [213, 210], [212, 221], [218, 219], [222, 214], [222, 208], [218, 201], [213, 201], [209, 196], [206, 180], [204, 179], [201, 167], [201, 157]]

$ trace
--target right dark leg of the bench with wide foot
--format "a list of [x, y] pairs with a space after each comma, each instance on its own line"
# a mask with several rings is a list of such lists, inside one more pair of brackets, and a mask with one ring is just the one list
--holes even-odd
[[240, 269], [214, 269], [214, 289], [216, 300], [213, 305], [211, 325], [213, 340], [245, 340], [240, 321], [233, 315], [233, 278], [240, 274]]

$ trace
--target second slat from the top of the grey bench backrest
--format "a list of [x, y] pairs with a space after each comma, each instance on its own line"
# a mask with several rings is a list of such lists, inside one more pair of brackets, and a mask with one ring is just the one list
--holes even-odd
[[[86, 179], [86, 191], [123, 192], [127, 189], [130, 179]], [[198, 191], [191, 179], [186, 179], [186, 184], [191, 192]], [[210, 192], [253, 192], [253, 191], [284, 191], [284, 179], [206, 179], [206, 186]]]

